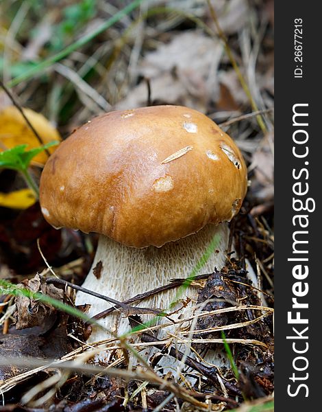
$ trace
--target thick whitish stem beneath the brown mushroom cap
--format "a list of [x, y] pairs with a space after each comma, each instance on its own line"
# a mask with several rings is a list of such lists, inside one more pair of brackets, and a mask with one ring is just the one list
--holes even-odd
[[[210, 258], [196, 275], [212, 273], [214, 267], [221, 269], [225, 264], [229, 240], [227, 224], [223, 223], [217, 227], [207, 225], [198, 233], [177, 242], [165, 244], [161, 248], [135, 249], [114, 242], [106, 236], [100, 236], [95, 260], [83, 286], [117, 301], [125, 301], [140, 293], [146, 293], [148, 290], [169, 284], [171, 279], [186, 278], [198, 264], [203, 253], [209, 248], [214, 236], [218, 242], [216, 242]], [[101, 271], [95, 270], [99, 266], [101, 266]], [[197, 301], [198, 287], [192, 284], [183, 290], [181, 296], [178, 297], [177, 293], [177, 288], [158, 293], [153, 297], [136, 302], [136, 306], [173, 312], [173, 308], [170, 310], [173, 301], [176, 300], [175, 308], [182, 308], [182, 303], [186, 302], [188, 298], [190, 299], [188, 306], [176, 314], [171, 314], [171, 319], [179, 317], [182, 319], [187, 312], [191, 316], [189, 306]], [[102, 299], [82, 292], [77, 293], [75, 303], [77, 305], [90, 304], [90, 317], [112, 306]], [[142, 319], [147, 321], [152, 317], [154, 317], [153, 314], [143, 315]], [[115, 310], [99, 322], [118, 336], [131, 329], [127, 317], [119, 310]], [[169, 319], [158, 318], [158, 322], [169, 323]], [[175, 326], [163, 328], [158, 332], [158, 338], [164, 339], [168, 337], [168, 333], [173, 333], [174, 330], [177, 334], [178, 330], [175, 329]], [[89, 341], [101, 341], [110, 337], [112, 335], [108, 336], [103, 330], [94, 327]]]

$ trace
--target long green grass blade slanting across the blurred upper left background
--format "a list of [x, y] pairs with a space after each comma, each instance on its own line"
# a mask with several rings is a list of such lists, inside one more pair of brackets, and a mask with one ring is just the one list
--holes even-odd
[[55, 54], [54, 56], [51, 56], [47, 58], [46, 60], [40, 62], [38, 65], [27, 70], [25, 73], [21, 74], [20, 76], [15, 77], [14, 79], [11, 80], [11, 82], [8, 82], [6, 86], [14, 87], [17, 84], [23, 82], [23, 80], [27, 80], [29, 78], [32, 78], [32, 76], [36, 74], [42, 73], [42, 71], [44, 71], [45, 69], [53, 65], [55, 62], [62, 60], [62, 58], [65, 58], [66, 56], [69, 56], [69, 54], [75, 52], [75, 50], [79, 49], [79, 47], [86, 45], [86, 43], [91, 41], [93, 38], [95, 38], [102, 32], [105, 32], [105, 30], [109, 29], [110, 27], [112, 27], [112, 25], [114, 25], [115, 23], [123, 19], [124, 16], [126, 16], [127, 14], [129, 14], [130, 12], [138, 8], [140, 3], [143, 3], [143, 1], [145, 0], [132, 1], [132, 3], [129, 3], [129, 5], [127, 5], [125, 8], [123, 8], [122, 10], [119, 10], [119, 12], [114, 14], [114, 16], [110, 17], [108, 21], [102, 23], [99, 27], [97, 27], [96, 30], [79, 38], [79, 40], [75, 41], [75, 43], [67, 46], [65, 49]]

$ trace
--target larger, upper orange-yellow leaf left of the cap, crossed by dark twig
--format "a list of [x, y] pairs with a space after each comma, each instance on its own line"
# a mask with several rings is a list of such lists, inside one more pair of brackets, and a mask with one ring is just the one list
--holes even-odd
[[[34, 126], [44, 144], [53, 140], [61, 140], [58, 131], [51, 126], [43, 115], [29, 108], [23, 108], [23, 113], [25, 113], [32, 126]], [[11, 149], [18, 144], [28, 144], [27, 149], [40, 146], [37, 137], [32, 129], [29, 128], [23, 115], [15, 106], [8, 106], [0, 111], [0, 152], [5, 149]], [[52, 153], [55, 147], [48, 150]], [[33, 160], [35, 163], [45, 164], [47, 158], [46, 152], [41, 152]]]

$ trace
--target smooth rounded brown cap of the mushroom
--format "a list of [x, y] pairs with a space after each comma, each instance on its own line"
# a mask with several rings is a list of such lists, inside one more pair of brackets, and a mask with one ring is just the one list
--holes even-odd
[[78, 128], [42, 171], [40, 205], [54, 227], [132, 247], [161, 247], [231, 220], [247, 190], [234, 141], [182, 106], [114, 111]]

